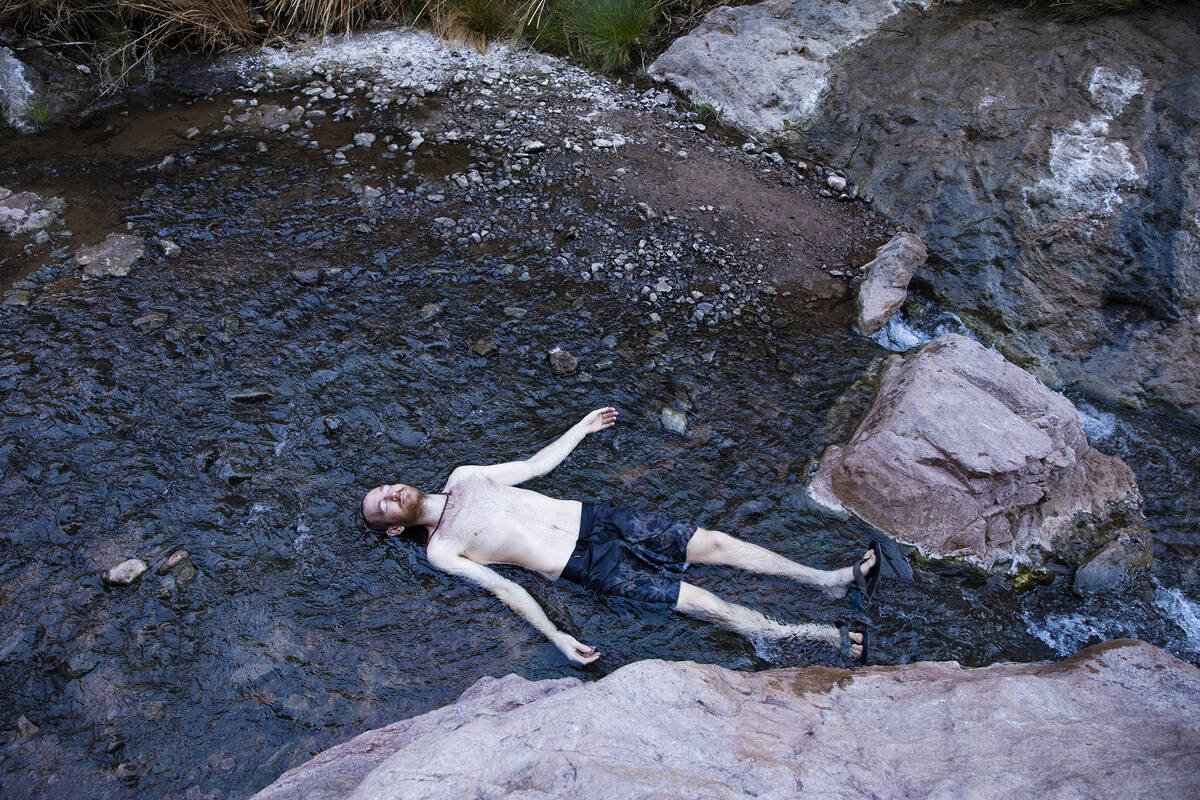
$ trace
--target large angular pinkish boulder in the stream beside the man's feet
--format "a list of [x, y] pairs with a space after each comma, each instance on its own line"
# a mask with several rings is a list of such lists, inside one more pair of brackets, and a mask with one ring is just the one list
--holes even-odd
[[[875, 403], [818, 480], [846, 510], [934, 558], [985, 569], [1054, 552], [1082, 563], [1111, 541], [1147, 547], [1141, 494], [1087, 443], [1062, 395], [977, 342], [942, 336], [880, 378]], [[833, 504], [830, 504], [833, 505]]]

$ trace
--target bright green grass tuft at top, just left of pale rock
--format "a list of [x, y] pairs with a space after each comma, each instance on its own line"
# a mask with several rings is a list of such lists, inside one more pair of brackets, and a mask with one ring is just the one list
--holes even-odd
[[604, 72], [625, 70], [658, 19], [656, 0], [575, 0], [570, 30], [583, 59]]

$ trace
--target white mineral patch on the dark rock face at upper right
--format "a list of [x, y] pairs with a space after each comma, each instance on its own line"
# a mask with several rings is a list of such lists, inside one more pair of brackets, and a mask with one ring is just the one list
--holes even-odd
[[1124, 204], [1126, 192], [1134, 188], [1141, 173], [1129, 146], [1109, 138], [1109, 122], [1142, 88], [1135, 67], [1123, 76], [1105, 67], [1092, 72], [1087, 90], [1102, 112], [1050, 136], [1050, 175], [1022, 192], [1039, 225], [1111, 217]]

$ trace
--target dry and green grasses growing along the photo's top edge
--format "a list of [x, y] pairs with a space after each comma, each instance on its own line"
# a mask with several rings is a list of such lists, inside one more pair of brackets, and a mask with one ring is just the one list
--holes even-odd
[[[486, 47], [515, 36], [604, 71], [629, 70], [719, 5], [750, 0], [0, 0], [0, 28], [76, 48], [112, 86], [167, 49], [220, 50], [372, 20], [416, 24]], [[1018, 0], [1066, 19], [1195, 0]]]

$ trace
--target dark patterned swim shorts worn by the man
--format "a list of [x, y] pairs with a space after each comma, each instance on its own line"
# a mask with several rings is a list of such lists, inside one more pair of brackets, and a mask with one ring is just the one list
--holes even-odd
[[696, 525], [662, 515], [584, 503], [580, 540], [559, 577], [600, 594], [674, 606], [695, 533]]

